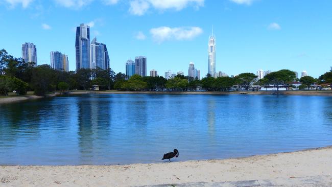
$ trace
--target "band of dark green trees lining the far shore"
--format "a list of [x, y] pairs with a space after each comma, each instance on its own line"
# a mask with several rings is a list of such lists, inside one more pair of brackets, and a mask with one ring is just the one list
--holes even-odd
[[0, 51], [0, 95], [8, 95], [15, 91], [18, 95], [25, 95], [27, 91], [34, 91], [35, 95], [44, 96], [54, 90], [88, 90], [92, 85], [99, 85], [102, 90], [125, 91], [194, 91], [199, 89], [207, 91], [227, 91], [232, 86], [249, 90], [252, 85], [279, 87], [292, 86], [294, 81], [300, 81], [302, 87], [310, 88], [313, 83], [325, 86], [332, 83], [332, 68], [318, 79], [310, 76], [296, 79], [295, 72], [281, 69], [266, 75], [257, 81], [252, 73], [243, 73], [235, 77], [211, 77], [209, 74], [202, 80], [177, 75], [173, 79], [163, 77], [141, 77], [133, 75], [128, 77], [123, 73], [115, 73], [109, 69], [79, 69], [78, 71], [64, 72], [43, 64], [35, 66], [34, 62], [25, 62], [21, 58], [8, 55], [6, 50]]

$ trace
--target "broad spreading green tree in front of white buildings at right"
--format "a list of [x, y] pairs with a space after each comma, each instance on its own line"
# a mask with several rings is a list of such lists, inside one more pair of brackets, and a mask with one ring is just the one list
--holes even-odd
[[277, 91], [279, 91], [280, 86], [285, 86], [288, 89], [290, 84], [296, 79], [296, 74], [288, 69], [281, 69], [278, 72], [266, 75], [265, 78], [269, 80], [270, 84], [276, 86]]

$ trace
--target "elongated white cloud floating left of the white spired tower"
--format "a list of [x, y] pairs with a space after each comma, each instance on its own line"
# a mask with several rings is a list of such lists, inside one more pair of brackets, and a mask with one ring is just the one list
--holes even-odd
[[150, 30], [153, 40], [157, 43], [165, 40], [190, 40], [202, 32], [203, 30], [199, 27], [159, 27]]

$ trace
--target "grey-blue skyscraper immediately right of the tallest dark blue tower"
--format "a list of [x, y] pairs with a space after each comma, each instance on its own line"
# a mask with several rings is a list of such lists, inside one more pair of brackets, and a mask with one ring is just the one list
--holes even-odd
[[90, 68], [97, 67], [107, 69], [109, 67], [109, 56], [106, 44], [98, 43], [97, 38], [93, 38], [90, 44]]

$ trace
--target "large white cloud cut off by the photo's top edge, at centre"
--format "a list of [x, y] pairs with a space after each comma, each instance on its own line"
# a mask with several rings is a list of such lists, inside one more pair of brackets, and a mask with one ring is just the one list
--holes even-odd
[[150, 7], [158, 10], [175, 9], [177, 11], [192, 5], [204, 6], [204, 0], [132, 0], [129, 12], [134, 15], [144, 15]]

